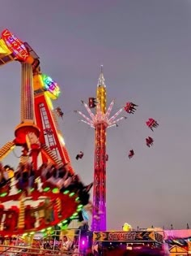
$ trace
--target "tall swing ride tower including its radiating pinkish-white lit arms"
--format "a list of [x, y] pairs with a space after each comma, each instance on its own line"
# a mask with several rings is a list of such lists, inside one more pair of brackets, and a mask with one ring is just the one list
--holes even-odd
[[[93, 231], [106, 230], [106, 162], [108, 154], [106, 151], [106, 131], [107, 128], [117, 126], [121, 119], [126, 119], [125, 116], [119, 118], [118, 115], [122, 111], [131, 114], [136, 106], [132, 102], [127, 102], [121, 107], [116, 114], [110, 117], [114, 100], [107, 106], [107, 89], [104, 83], [103, 66], [101, 66], [100, 77], [96, 89], [96, 98], [89, 98], [89, 106], [83, 102], [87, 109], [90, 118], [78, 111], [79, 115], [83, 116], [81, 121], [95, 129], [95, 163], [94, 163], [94, 190], [93, 190], [93, 215], [91, 229]], [[96, 108], [96, 114], [93, 114], [91, 108]]]

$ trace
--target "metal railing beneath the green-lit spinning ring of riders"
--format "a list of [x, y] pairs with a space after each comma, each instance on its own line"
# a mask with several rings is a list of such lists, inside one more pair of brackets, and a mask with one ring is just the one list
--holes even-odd
[[[58, 232], [58, 234], [57, 234]], [[63, 237], [67, 236], [70, 248], [66, 250]], [[52, 234], [37, 233], [29, 236], [0, 237], [1, 256], [83, 256], [80, 249], [81, 232], [70, 228]]]

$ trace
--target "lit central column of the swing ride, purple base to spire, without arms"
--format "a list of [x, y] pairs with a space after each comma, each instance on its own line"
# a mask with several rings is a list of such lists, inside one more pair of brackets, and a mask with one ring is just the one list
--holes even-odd
[[[96, 115], [103, 116], [106, 113], [106, 86], [104, 84], [103, 67], [98, 80], [96, 99]], [[93, 191], [93, 215], [92, 230], [106, 230], [106, 129], [107, 122], [98, 119], [95, 124], [95, 166], [94, 166], [94, 191]], [[99, 217], [100, 219], [97, 219]]]

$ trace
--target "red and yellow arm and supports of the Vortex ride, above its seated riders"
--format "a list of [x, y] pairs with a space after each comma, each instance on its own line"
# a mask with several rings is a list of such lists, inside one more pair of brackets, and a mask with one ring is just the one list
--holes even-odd
[[[0, 64], [13, 60], [21, 63], [21, 110], [20, 124], [15, 128], [15, 140], [7, 142], [0, 150], [0, 160], [14, 149], [23, 147], [25, 157], [32, 156], [37, 166], [37, 155], [43, 162], [70, 163], [62, 132], [58, 128], [52, 100], [57, 99], [60, 89], [55, 81], [40, 72], [40, 60], [28, 43], [22, 43], [7, 29], [2, 32]], [[19, 50], [20, 49], [20, 50]]]

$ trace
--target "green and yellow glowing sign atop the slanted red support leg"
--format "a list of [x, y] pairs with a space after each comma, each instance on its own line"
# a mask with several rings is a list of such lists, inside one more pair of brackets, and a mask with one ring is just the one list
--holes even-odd
[[44, 83], [44, 89], [53, 94], [55, 98], [58, 98], [60, 94], [60, 88], [57, 83], [49, 76], [42, 74], [42, 80]]

